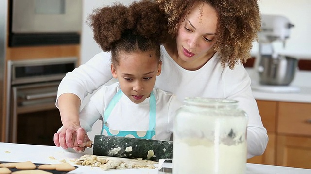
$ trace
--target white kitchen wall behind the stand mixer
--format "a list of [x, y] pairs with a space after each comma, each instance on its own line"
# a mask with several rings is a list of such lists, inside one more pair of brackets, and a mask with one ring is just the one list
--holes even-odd
[[[297, 58], [311, 58], [311, 0], [259, 0], [262, 14], [287, 17], [294, 27], [283, 48], [281, 42], [273, 43], [276, 52]], [[253, 44], [252, 53], [258, 52], [258, 43]]]

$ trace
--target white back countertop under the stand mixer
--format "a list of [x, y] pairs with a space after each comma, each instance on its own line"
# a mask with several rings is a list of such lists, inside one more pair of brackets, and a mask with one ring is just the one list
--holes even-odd
[[[302, 102], [302, 103], [311, 103], [311, 71], [296, 71], [294, 80], [292, 83], [283, 87], [280, 86], [278, 90], [277, 87], [273, 87], [273, 89], [278, 90], [278, 92], [267, 92], [264, 90], [258, 90], [259, 85], [259, 76], [254, 73], [252, 68], [246, 68], [249, 76], [252, 79], [252, 90], [255, 99], [258, 100], [269, 100], [269, 101], [281, 101], [281, 102]], [[256, 88], [255, 88], [256, 87]], [[266, 86], [261, 86], [266, 87]], [[271, 87], [272, 88], [272, 87]], [[294, 89], [298, 88], [299, 90], [288, 90], [283, 91], [283, 89]], [[271, 90], [273, 91], [273, 90]]]

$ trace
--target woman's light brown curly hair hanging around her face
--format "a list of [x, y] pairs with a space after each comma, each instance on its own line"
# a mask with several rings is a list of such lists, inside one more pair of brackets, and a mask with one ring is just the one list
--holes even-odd
[[250, 58], [252, 42], [257, 40], [261, 18], [257, 0], [156, 0], [166, 13], [168, 32], [176, 36], [181, 20], [195, 2], [206, 2], [218, 13], [217, 41], [214, 50], [222, 66], [233, 69]]

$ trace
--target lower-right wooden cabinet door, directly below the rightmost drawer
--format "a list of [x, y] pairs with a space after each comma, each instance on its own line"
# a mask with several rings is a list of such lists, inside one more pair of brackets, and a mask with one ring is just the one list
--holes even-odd
[[276, 165], [311, 169], [311, 137], [278, 135]]

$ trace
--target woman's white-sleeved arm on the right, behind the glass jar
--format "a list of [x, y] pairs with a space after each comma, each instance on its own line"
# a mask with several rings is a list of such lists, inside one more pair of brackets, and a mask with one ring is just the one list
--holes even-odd
[[227, 69], [224, 76], [226, 98], [239, 101], [239, 108], [248, 116], [247, 157], [261, 155], [268, 143], [267, 130], [264, 128], [256, 100], [251, 89], [251, 79], [245, 68], [236, 65], [234, 70]]

